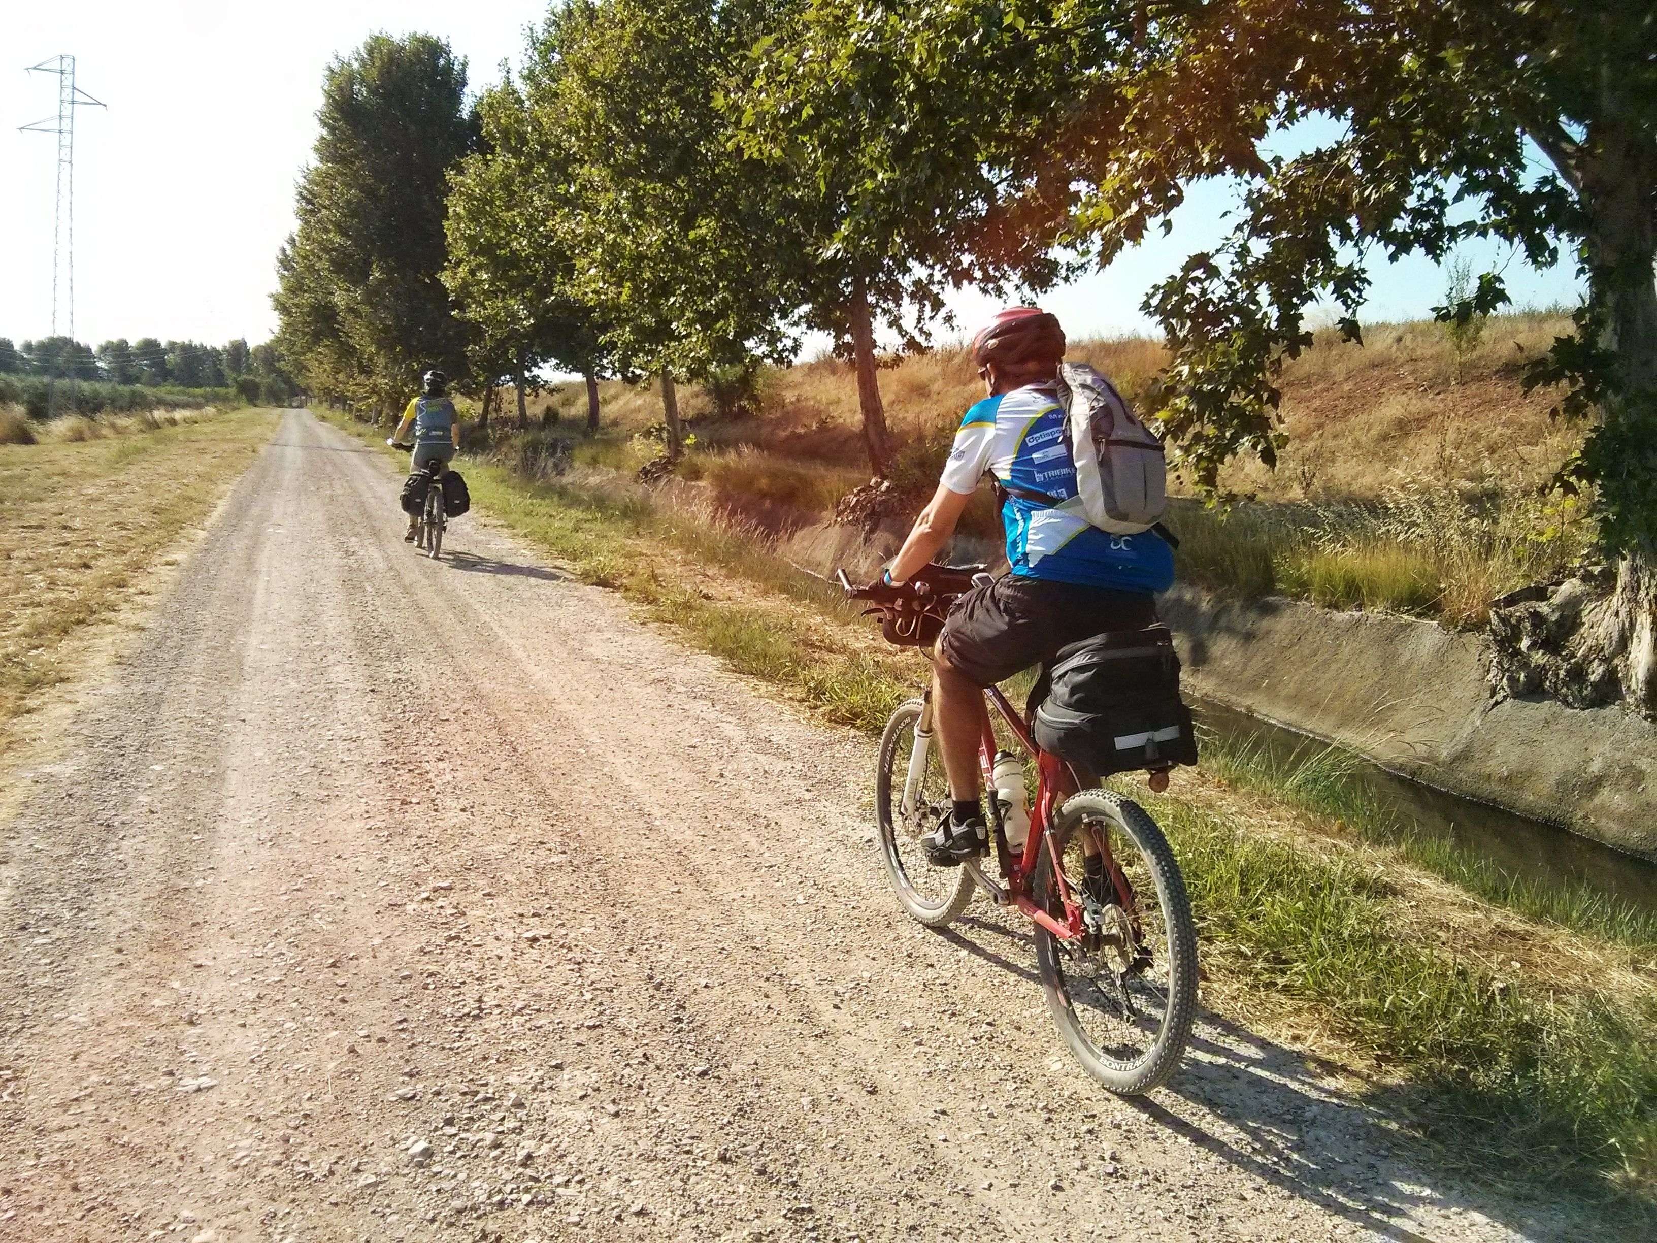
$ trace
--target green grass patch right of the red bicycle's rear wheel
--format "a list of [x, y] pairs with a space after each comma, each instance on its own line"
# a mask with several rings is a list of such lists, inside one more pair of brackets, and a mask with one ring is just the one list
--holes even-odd
[[1471, 1132], [1486, 1158], [1524, 1173], [1657, 1185], [1650, 998], [1630, 1009], [1505, 979], [1400, 935], [1390, 887], [1369, 867], [1249, 837], [1176, 799], [1148, 802], [1176, 844], [1203, 945], [1407, 1067], [1430, 1130]]

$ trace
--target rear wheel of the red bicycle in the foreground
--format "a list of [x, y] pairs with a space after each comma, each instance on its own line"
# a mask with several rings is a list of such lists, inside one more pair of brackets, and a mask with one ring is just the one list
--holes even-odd
[[[1122, 1095], [1148, 1092], [1180, 1064], [1196, 1014], [1196, 928], [1168, 839], [1132, 799], [1070, 797], [1052, 829], [1059, 867], [1087, 931], [1060, 940], [1036, 926], [1047, 1008], [1082, 1067]], [[1052, 844], [1036, 863], [1036, 902], [1064, 918]], [[1085, 855], [1115, 863], [1085, 880]]]

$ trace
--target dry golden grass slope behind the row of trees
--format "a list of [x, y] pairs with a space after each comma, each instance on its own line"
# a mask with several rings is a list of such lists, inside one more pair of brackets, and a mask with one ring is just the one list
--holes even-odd
[[[1442, 325], [1379, 323], [1365, 345], [1342, 343], [1334, 330], [1283, 375], [1283, 418], [1289, 447], [1278, 471], [1238, 462], [1226, 486], [1273, 501], [1374, 497], [1412, 479], [1457, 484], [1490, 469], [1514, 484], [1551, 474], [1577, 443], [1577, 429], [1548, 418], [1554, 396], [1526, 396], [1519, 376], [1528, 360], [1569, 330], [1553, 312], [1490, 320], [1478, 348], [1460, 370]], [[1143, 338], [1077, 340], [1070, 356], [1110, 375], [1130, 398], [1145, 391], [1167, 360], [1162, 343]], [[908, 446], [948, 443], [969, 404], [983, 396], [958, 343], [890, 360], [880, 373], [886, 421]], [[502, 391], [510, 426], [515, 406]], [[628, 439], [661, 421], [653, 383], [600, 385], [603, 434]], [[585, 426], [587, 389], [568, 381], [527, 399], [530, 419], [557, 411], [563, 434]], [[708, 447], [751, 446], [794, 461], [867, 471], [852, 366], [822, 358], [759, 376], [757, 416], [713, 423], [713, 403], [696, 386], [681, 386], [679, 406]]]

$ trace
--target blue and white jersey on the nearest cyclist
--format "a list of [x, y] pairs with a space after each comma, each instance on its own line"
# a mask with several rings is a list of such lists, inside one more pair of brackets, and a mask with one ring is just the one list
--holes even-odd
[[[1054, 385], [1027, 385], [966, 411], [943, 484], [951, 492], [973, 492], [986, 471], [1009, 487], [1059, 502], [1075, 496], [1075, 462]], [[1118, 592], [1167, 592], [1173, 585], [1173, 549], [1152, 530], [1112, 535], [1079, 514], [1016, 496], [1001, 507], [1001, 522], [1007, 563], [1026, 578]]]

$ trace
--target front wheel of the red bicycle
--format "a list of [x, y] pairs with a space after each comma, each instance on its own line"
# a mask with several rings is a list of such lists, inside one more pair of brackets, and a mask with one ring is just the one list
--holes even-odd
[[[938, 827], [949, 812], [949, 779], [943, 771], [938, 739], [926, 736], [925, 754], [915, 756], [916, 726], [925, 704], [910, 699], [886, 721], [880, 736], [880, 767], [875, 772], [875, 824], [886, 875], [903, 910], [928, 928], [943, 928], [973, 900], [973, 877], [961, 867], [935, 867], [926, 858], [921, 835]], [[905, 784], [915, 767], [911, 802], [903, 809]]]

